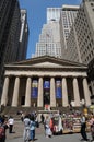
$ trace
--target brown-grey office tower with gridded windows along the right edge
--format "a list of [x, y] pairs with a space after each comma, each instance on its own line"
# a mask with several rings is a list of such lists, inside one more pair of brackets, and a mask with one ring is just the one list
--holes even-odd
[[64, 51], [64, 59], [89, 66], [90, 88], [94, 95], [94, 0], [81, 3]]

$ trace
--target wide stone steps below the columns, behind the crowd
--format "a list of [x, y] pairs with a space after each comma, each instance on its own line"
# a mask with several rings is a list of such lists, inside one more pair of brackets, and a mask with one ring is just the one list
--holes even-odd
[[[73, 108], [73, 110], [81, 110], [81, 107], [78, 108]], [[70, 110], [69, 107], [51, 107], [50, 111], [55, 111], [57, 113], [58, 110], [61, 114], [67, 114], [67, 113], [71, 113], [72, 110]], [[11, 106], [7, 106], [4, 107], [3, 111], [1, 113], [1, 115], [7, 115], [7, 116], [13, 116], [16, 120], [21, 119], [21, 115], [17, 115], [17, 111], [22, 111], [23, 114], [31, 114], [33, 111], [36, 111], [37, 114], [46, 114], [46, 113], [50, 113], [50, 111], [45, 111], [43, 107], [11, 107]]]

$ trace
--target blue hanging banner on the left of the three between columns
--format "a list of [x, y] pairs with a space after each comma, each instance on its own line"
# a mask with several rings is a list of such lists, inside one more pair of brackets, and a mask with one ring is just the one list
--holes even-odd
[[38, 82], [37, 80], [33, 80], [32, 82], [32, 98], [37, 98], [38, 95]]

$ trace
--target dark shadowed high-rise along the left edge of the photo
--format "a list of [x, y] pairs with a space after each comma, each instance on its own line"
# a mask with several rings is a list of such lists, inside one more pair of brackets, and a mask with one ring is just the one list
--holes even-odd
[[17, 0], [0, 0], [0, 94], [5, 63], [19, 60], [21, 11]]

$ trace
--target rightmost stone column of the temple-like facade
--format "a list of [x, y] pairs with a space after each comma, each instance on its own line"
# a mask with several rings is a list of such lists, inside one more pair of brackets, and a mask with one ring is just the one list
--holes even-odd
[[91, 99], [90, 99], [91, 93], [89, 90], [86, 78], [83, 79], [83, 92], [84, 92], [85, 105], [90, 106], [91, 105]]

